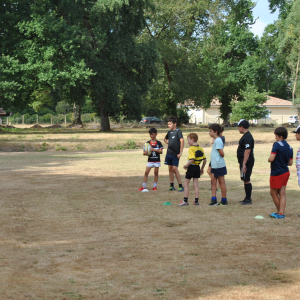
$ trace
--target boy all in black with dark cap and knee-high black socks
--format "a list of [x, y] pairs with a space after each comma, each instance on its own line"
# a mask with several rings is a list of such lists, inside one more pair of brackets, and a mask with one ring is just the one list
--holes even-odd
[[240, 166], [241, 180], [244, 181], [244, 188], [246, 197], [244, 200], [240, 201], [242, 205], [252, 204], [251, 194], [252, 194], [252, 184], [251, 184], [251, 174], [254, 166], [254, 139], [252, 134], [249, 132], [249, 122], [241, 119], [238, 123], [239, 132], [243, 134], [239, 141], [239, 146], [237, 149], [237, 159]]

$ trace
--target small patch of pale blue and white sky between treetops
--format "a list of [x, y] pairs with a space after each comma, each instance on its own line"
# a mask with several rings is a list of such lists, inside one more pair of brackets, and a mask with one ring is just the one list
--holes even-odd
[[251, 31], [258, 35], [259, 37], [262, 36], [264, 28], [268, 25], [273, 23], [278, 18], [278, 11], [274, 14], [271, 14], [269, 10], [269, 2], [268, 0], [258, 0], [256, 6], [253, 9], [254, 19], [258, 17], [256, 23], [252, 25]]

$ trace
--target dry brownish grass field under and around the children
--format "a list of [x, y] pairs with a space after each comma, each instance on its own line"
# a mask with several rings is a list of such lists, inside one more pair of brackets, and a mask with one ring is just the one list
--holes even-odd
[[[253, 134], [271, 143], [272, 131]], [[141, 145], [144, 132], [5, 133], [1, 151], [14, 139], [98, 149], [101, 141]], [[209, 143], [207, 131], [200, 136]], [[237, 129], [225, 136], [232, 143], [240, 137]], [[293, 134], [288, 141], [295, 152]], [[252, 206], [239, 204], [244, 192], [236, 145], [225, 147], [227, 207], [208, 205], [207, 175], [199, 182], [200, 206], [177, 207], [183, 195], [167, 190], [164, 165], [158, 191], [137, 192], [146, 165], [141, 150], [0, 153], [0, 299], [299, 299], [300, 188], [292, 166], [287, 217], [268, 217], [275, 211], [270, 143], [255, 147]], [[209, 156], [210, 147], [204, 150]], [[152, 182], [151, 173], [148, 187]]]

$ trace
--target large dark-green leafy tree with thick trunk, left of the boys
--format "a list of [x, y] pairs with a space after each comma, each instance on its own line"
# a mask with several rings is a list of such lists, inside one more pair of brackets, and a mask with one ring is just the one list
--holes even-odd
[[29, 19], [18, 24], [23, 39], [15, 54], [27, 79], [22, 86], [63, 87], [77, 106], [89, 93], [103, 131], [121, 110], [139, 118], [142, 95], [155, 76], [155, 47], [136, 39], [147, 5], [147, 0], [30, 3]]

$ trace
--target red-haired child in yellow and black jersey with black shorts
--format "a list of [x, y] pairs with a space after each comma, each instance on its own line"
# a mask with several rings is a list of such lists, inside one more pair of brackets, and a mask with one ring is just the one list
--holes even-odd
[[[188, 162], [183, 166], [185, 170], [187, 170], [185, 174], [184, 181], [184, 199], [178, 204], [178, 206], [187, 206], [189, 205], [188, 197], [189, 197], [189, 183], [193, 178], [193, 184], [195, 189], [195, 201], [194, 205], [199, 205], [199, 187], [198, 187], [198, 179], [203, 174], [203, 170], [206, 164], [206, 157], [203, 149], [198, 145], [198, 135], [196, 133], [190, 133], [187, 136], [188, 144], [191, 146], [189, 149], [189, 158]], [[200, 169], [200, 164], [202, 162], [202, 166]]]

